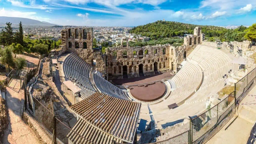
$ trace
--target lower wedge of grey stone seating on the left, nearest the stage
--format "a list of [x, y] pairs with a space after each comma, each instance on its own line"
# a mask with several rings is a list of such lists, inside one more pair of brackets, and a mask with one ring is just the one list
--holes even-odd
[[120, 88], [105, 80], [99, 71], [93, 73], [93, 81], [101, 93], [120, 99], [130, 100], [127, 92], [122, 91]]

